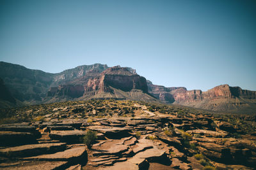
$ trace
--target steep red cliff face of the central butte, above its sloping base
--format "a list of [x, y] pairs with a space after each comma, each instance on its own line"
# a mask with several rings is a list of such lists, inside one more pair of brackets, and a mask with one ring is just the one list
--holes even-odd
[[[135, 73], [135, 74], [134, 74]], [[134, 69], [128, 67], [110, 67], [102, 73], [88, 73], [79, 80], [60, 85], [58, 90], [52, 88], [49, 96], [81, 97], [95, 95], [100, 92], [112, 92], [111, 88], [120, 89], [125, 92], [132, 89], [140, 89], [147, 93], [147, 81], [144, 77], [136, 74]]]

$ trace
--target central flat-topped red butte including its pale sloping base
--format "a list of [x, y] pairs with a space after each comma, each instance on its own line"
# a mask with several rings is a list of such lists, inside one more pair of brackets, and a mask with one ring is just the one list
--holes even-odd
[[77, 80], [52, 87], [47, 96], [51, 97], [51, 102], [63, 101], [65, 97], [79, 100], [115, 98], [156, 101], [147, 92], [147, 81], [144, 77], [129, 67], [115, 66], [101, 73], [93, 69]]

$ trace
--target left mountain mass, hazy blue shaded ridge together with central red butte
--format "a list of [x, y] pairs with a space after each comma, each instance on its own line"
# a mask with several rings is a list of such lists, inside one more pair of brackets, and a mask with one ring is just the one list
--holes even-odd
[[147, 93], [146, 79], [130, 67], [93, 64], [53, 74], [0, 62], [0, 78], [10, 96], [25, 105], [91, 98], [156, 101]]

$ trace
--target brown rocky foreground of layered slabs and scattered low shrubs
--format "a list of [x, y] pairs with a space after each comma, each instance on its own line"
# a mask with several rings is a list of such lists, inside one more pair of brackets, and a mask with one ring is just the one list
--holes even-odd
[[[243, 132], [239, 123], [193, 111], [159, 111], [137, 102], [109, 103], [109, 110], [104, 110], [106, 103], [91, 102], [90, 111], [81, 103], [71, 108], [51, 106], [51, 110], [38, 106], [41, 112], [45, 108], [49, 113], [35, 115], [30, 122], [1, 124], [0, 169], [256, 167], [255, 131]], [[38, 110], [33, 108], [34, 113]], [[102, 112], [111, 112], [111, 116]], [[19, 117], [24, 114], [31, 112], [17, 110]], [[255, 120], [251, 121], [254, 128]], [[90, 149], [83, 144], [87, 131], [97, 132]]]

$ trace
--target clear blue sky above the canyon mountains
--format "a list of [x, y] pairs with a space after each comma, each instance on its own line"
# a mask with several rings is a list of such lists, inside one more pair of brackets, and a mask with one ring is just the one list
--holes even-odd
[[256, 1], [3, 1], [0, 60], [128, 66], [166, 87], [256, 90]]

